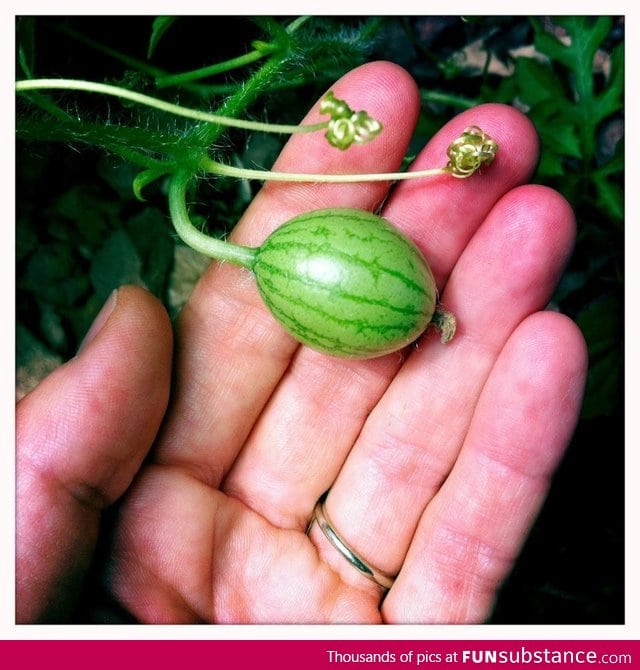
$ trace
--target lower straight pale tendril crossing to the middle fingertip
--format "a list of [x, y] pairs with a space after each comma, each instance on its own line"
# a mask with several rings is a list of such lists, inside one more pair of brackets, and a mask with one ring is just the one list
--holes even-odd
[[441, 174], [449, 174], [448, 168], [416, 170], [414, 172], [373, 172], [368, 174], [311, 174], [296, 172], [271, 172], [270, 170], [251, 170], [219, 163], [211, 158], [203, 158], [200, 167], [205, 172], [238, 179], [259, 179], [261, 181], [317, 182], [331, 184], [353, 184], [370, 181], [402, 181], [423, 179]]

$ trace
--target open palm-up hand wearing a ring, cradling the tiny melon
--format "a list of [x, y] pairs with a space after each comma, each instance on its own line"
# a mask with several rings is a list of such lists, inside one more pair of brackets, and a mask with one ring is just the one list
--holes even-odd
[[[410, 77], [370, 63], [331, 88], [385, 131], [347, 152], [294, 137], [274, 169], [397, 169], [419, 109]], [[319, 118], [315, 106], [307, 122]], [[557, 193], [526, 185], [529, 121], [469, 110], [414, 167], [442, 165], [469, 125], [500, 150], [468, 180], [390, 194], [267, 184], [232, 234], [257, 245], [303, 211], [384, 200], [458, 318], [447, 345], [427, 335], [368, 361], [300, 348], [229, 264], [211, 265], [173, 334], [154, 298], [119, 290], [79, 355], [17, 407], [19, 622], [68, 620], [79, 597], [81, 621], [118, 620], [105, 601], [149, 623], [486, 620], [571, 437], [587, 363], [575, 324], [544, 311], [575, 223]], [[399, 573], [384, 599], [317, 526], [305, 534], [329, 487], [342, 536]]]

